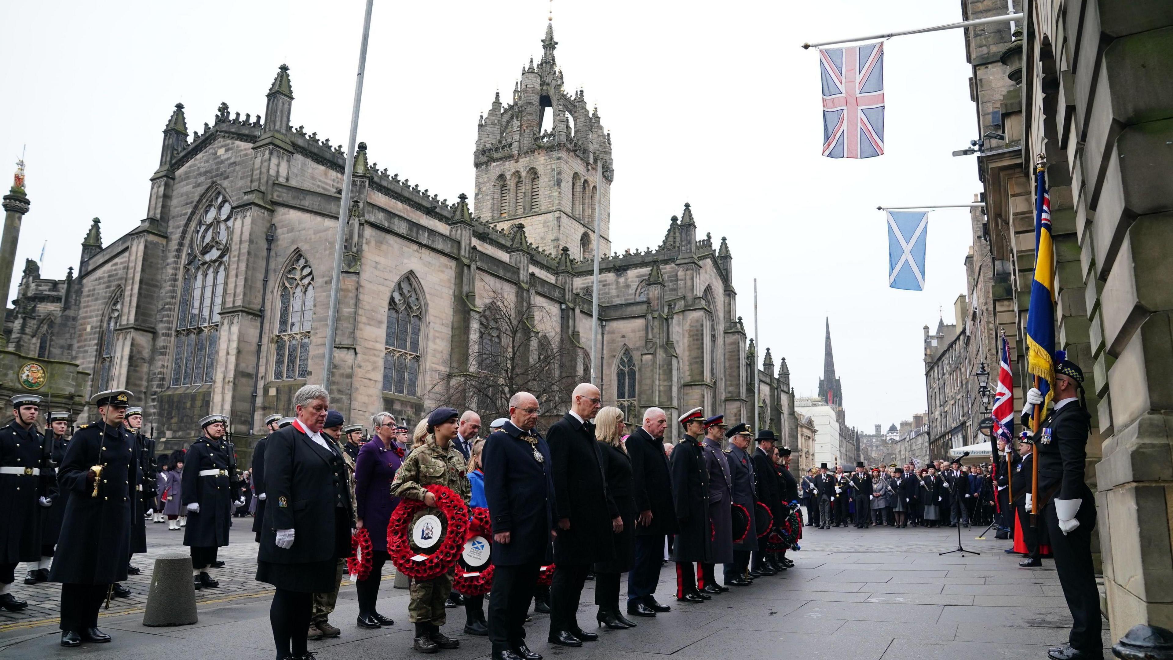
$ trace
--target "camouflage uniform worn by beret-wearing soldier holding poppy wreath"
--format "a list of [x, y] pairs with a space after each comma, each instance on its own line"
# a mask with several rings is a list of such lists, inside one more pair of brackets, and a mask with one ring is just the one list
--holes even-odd
[[[423, 445], [415, 449], [404, 465], [395, 472], [391, 483], [391, 494], [406, 499], [423, 500], [425, 486], [448, 486], [468, 501], [472, 486], [468, 483], [465, 456], [448, 443], [448, 449], [440, 449], [435, 438], [428, 436]], [[407, 608], [407, 618], [413, 624], [442, 626], [445, 624], [443, 601], [452, 593], [452, 574], [445, 573], [434, 580], [418, 582], [412, 580], [412, 601]]]

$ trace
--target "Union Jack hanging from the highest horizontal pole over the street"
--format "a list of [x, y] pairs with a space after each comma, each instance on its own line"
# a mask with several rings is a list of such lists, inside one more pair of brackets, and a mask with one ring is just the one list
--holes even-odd
[[822, 69], [822, 155], [883, 154], [883, 43], [819, 50]]

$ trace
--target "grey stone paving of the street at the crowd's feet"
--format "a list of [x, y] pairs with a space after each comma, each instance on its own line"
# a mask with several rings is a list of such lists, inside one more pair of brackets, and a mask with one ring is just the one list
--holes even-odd
[[[1017, 555], [1002, 552], [1008, 541], [974, 540], [978, 531], [963, 530], [962, 540], [979, 557], [941, 557], [938, 552], [956, 547], [955, 530], [807, 530], [802, 551], [792, 553], [795, 568], [753, 586], [705, 604], [677, 604], [671, 597], [674, 572], [666, 565], [657, 595], [672, 612], [638, 619], [639, 627], [631, 631], [601, 631], [599, 641], [577, 649], [549, 646], [548, 618], [535, 615], [528, 641], [548, 659], [576, 660], [655, 660], [669, 654], [697, 660], [1045, 659], [1046, 647], [1063, 644], [1071, 624], [1053, 563], [1019, 568]], [[413, 656], [407, 593], [392, 590], [385, 578], [380, 595], [379, 610], [394, 626], [358, 628], [354, 588], [347, 586], [331, 619], [343, 637], [310, 642], [310, 649], [320, 660]], [[596, 629], [592, 601], [588, 582], [578, 615], [585, 629]], [[55, 625], [9, 629], [0, 632], [0, 658], [270, 660], [269, 604], [266, 595], [255, 593], [204, 602], [198, 624], [176, 628], [143, 627], [141, 613], [102, 617], [100, 626], [114, 641], [81, 649], [61, 648]], [[462, 645], [441, 655], [487, 656], [488, 640], [461, 634], [463, 611], [448, 613], [445, 632]]]

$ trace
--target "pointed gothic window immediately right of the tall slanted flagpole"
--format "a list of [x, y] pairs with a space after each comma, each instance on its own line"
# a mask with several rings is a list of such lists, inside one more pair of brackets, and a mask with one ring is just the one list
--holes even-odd
[[420, 332], [423, 301], [414, 276], [408, 272], [391, 290], [387, 305], [387, 338], [382, 356], [382, 389], [418, 396], [420, 380]]

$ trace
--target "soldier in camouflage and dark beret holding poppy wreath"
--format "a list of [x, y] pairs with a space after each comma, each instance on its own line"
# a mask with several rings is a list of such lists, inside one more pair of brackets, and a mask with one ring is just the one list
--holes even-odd
[[[468, 501], [472, 487], [465, 467], [465, 456], [452, 444], [456, 437], [460, 412], [453, 408], [439, 408], [428, 416], [428, 436], [422, 446], [406, 459], [395, 479], [391, 483], [391, 494], [405, 499], [420, 500], [435, 506], [435, 496], [426, 486], [447, 486]], [[452, 593], [452, 574], [445, 573], [434, 580], [412, 580], [412, 601], [408, 619], [415, 624], [412, 647], [421, 653], [435, 653], [441, 648], [456, 648], [460, 641], [440, 632], [446, 614], [443, 601]]]

